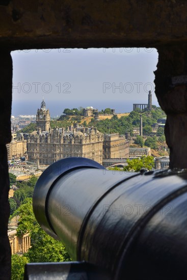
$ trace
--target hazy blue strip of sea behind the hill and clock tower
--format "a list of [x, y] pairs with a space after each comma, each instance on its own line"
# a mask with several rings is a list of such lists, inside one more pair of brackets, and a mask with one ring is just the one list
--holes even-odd
[[[78, 108], [80, 106], [87, 107], [92, 106], [97, 108], [99, 111], [105, 108], [115, 109], [115, 113], [129, 113], [133, 110], [133, 101], [84, 101], [84, 100], [73, 100], [73, 101], [45, 101], [47, 109], [51, 117], [60, 117], [63, 114], [65, 108]], [[136, 103], [142, 103], [141, 101]], [[12, 116], [17, 117], [18, 115], [36, 115], [37, 109], [40, 108], [41, 102], [35, 101], [14, 101], [12, 102]], [[158, 106], [158, 103], [155, 104]]]

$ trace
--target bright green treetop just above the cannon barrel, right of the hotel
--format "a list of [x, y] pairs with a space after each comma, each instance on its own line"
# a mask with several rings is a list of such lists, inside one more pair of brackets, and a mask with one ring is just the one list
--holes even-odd
[[128, 159], [127, 166], [124, 166], [124, 171], [135, 171], [138, 172], [145, 168], [151, 170], [154, 167], [154, 158], [152, 156], [142, 156], [141, 158]]

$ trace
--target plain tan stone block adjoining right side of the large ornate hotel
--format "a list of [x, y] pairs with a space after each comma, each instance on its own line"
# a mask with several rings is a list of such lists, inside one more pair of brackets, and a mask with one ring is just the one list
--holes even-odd
[[129, 141], [119, 133], [104, 134], [103, 159], [129, 157]]

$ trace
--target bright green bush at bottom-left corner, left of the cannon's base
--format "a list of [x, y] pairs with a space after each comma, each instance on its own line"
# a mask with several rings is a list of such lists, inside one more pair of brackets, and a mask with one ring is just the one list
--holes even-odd
[[28, 262], [29, 260], [25, 256], [12, 255], [11, 280], [23, 279], [24, 265]]

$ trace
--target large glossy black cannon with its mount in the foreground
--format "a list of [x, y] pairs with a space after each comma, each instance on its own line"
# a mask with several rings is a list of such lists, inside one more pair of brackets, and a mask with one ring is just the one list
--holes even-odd
[[186, 190], [186, 170], [114, 172], [78, 157], [51, 164], [33, 209], [72, 263], [27, 264], [25, 279], [184, 279]]

